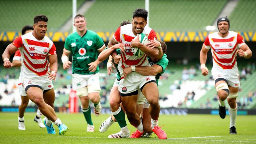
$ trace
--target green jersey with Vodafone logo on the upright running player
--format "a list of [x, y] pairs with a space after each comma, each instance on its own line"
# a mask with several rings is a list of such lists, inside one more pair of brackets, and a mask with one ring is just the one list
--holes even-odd
[[88, 64], [97, 60], [98, 49], [103, 45], [103, 40], [92, 30], [87, 29], [84, 36], [77, 32], [68, 35], [64, 47], [72, 52], [72, 73], [90, 75], [99, 72], [99, 66], [95, 72], [90, 72]]

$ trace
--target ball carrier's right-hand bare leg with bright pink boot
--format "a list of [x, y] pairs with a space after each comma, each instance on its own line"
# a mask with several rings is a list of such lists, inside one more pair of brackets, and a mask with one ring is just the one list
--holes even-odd
[[157, 125], [158, 117], [160, 112], [160, 106], [158, 103], [158, 88], [156, 83], [148, 83], [145, 84], [142, 91], [143, 95], [148, 100], [149, 106], [149, 114], [151, 116], [151, 127], [152, 131], [156, 133], [159, 139], [166, 139], [166, 133]]

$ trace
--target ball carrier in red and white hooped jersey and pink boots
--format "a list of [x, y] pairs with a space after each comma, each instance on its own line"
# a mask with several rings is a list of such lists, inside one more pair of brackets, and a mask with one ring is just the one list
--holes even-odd
[[[138, 100], [138, 89], [148, 99], [150, 107], [154, 111], [150, 111], [153, 123], [153, 129], [156, 129], [157, 136], [160, 139], [166, 139], [164, 131], [159, 131], [157, 123], [160, 112], [160, 106], [158, 103], [158, 88], [156, 85], [155, 76], [142, 76], [134, 72], [135, 66], [150, 66], [147, 55], [152, 57], [159, 57], [157, 48], [150, 49], [148, 46], [141, 44], [136, 35], [144, 33], [148, 35], [148, 39], [156, 39], [156, 33], [149, 27], [145, 27], [147, 24], [148, 12], [145, 9], [136, 9], [133, 12], [132, 24], [127, 24], [118, 28], [108, 43], [108, 47], [112, 47], [115, 44], [123, 43], [120, 45], [122, 62], [118, 64], [118, 70], [120, 71], [121, 80], [118, 86], [118, 90], [121, 93], [122, 105], [126, 111], [129, 122], [137, 128], [136, 132], [131, 135], [131, 138], [139, 138], [143, 134], [143, 125], [140, 120], [140, 116], [136, 113], [136, 103]], [[143, 52], [141, 56], [135, 56], [132, 53], [132, 47], [139, 47]], [[160, 55], [162, 57], [162, 54]], [[123, 69], [132, 66], [132, 73], [125, 79], [123, 75]]]

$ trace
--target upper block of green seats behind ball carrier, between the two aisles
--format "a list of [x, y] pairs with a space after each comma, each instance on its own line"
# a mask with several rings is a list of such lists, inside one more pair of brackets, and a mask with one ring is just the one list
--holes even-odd
[[[202, 30], [212, 25], [227, 0], [151, 0], [150, 27], [156, 31]], [[99, 9], [101, 8], [101, 9]], [[97, 0], [84, 14], [88, 28], [94, 31], [115, 31], [121, 21], [132, 20], [136, 8], [145, 8], [145, 1]]]

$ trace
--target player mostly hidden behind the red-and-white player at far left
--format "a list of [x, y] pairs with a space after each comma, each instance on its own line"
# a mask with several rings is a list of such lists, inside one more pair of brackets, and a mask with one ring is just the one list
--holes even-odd
[[[33, 26], [26, 25], [22, 28], [21, 34], [25, 35], [26, 33], [32, 32], [34, 30]], [[13, 67], [20, 67], [21, 66], [21, 55], [20, 50], [16, 51], [14, 54], [14, 57], [12, 59], [12, 65]], [[25, 92], [25, 89], [21, 85], [22, 83], [22, 68], [20, 68], [20, 76], [19, 76], [19, 91], [20, 91], [20, 97], [21, 97], [21, 104], [19, 106], [19, 117], [18, 117], [18, 129], [19, 130], [26, 130], [25, 123], [24, 123], [24, 113], [28, 106], [28, 97], [27, 93]], [[34, 118], [34, 121], [38, 123], [39, 127], [45, 128], [45, 125], [42, 122], [41, 119], [42, 113], [39, 109], [37, 109], [36, 116]]]

